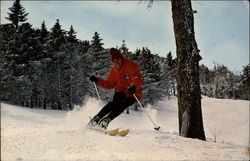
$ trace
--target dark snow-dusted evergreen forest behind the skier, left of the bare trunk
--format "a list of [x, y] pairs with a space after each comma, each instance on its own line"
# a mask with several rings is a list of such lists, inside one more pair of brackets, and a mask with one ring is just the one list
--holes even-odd
[[[40, 29], [29, 23], [17, 29], [13, 24], [1, 25], [1, 99], [30, 107], [72, 109], [86, 95], [94, 96], [89, 77], [106, 77], [111, 62], [98, 32], [91, 41], [78, 40], [75, 33], [72, 26], [69, 31], [61, 29], [59, 20], [50, 31], [45, 22]], [[163, 70], [171, 70], [171, 57], [168, 60], [153, 55], [146, 47], [132, 53], [125, 41], [119, 49], [141, 68], [145, 102], [154, 103], [170, 95], [168, 82], [174, 82], [174, 77]], [[103, 100], [109, 99], [112, 92], [99, 91]]]

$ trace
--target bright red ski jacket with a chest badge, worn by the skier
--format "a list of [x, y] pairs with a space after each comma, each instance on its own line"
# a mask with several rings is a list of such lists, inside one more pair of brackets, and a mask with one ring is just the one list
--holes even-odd
[[134, 85], [136, 88], [136, 97], [142, 99], [141, 85], [143, 84], [143, 78], [139, 67], [132, 60], [122, 59], [122, 66], [120, 68], [113, 66], [108, 78], [106, 80], [98, 78], [97, 85], [106, 89], [115, 87], [115, 92], [124, 92], [127, 97], [133, 97], [133, 95], [128, 92], [128, 87]]

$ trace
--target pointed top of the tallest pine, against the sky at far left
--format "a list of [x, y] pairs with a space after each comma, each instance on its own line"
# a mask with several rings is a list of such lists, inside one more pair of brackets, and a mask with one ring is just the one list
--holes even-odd
[[20, 0], [15, 0], [13, 6], [9, 8], [10, 13], [8, 13], [9, 17], [5, 17], [7, 20], [11, 21], [16, 29], [18, 28], [18, 24], [20, 22], [25, 22], [27, 20], [28, 13], [26, 13], [23, 6], [20, 4]]

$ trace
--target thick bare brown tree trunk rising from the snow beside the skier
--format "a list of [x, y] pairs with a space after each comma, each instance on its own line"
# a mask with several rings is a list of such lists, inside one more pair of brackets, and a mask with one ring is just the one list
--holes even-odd
[[177, 97], [181, 136], [206, 140], [201, 111], [199, 49], [194, 36], [190, 0], [172, 0], [177, 46]]

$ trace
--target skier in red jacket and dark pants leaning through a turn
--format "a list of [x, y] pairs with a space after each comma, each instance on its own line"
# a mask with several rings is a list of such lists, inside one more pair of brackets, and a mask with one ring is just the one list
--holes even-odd
[[113, 100], [108, 102], [90, 120], [87, 125], [89, 127], [98, 125], [103, 129], [107, 129], [110, 121], [135, 103], [136, 100], [133, 94], [138, 99], [142, 98], [141, 85], [143, 84], [143, 78], [138, 65], [132, 60], [123, 57], [120, 51], [115, 48], [111, 48], [108, 53], [113, 63], [108, 78], [104, 80], [93, 75], [90, 77], [90, 80], [106, 89], [115, 88], [115, 94]]

